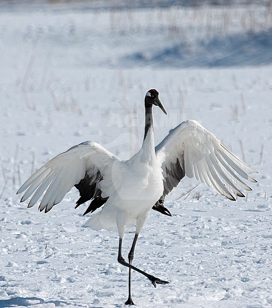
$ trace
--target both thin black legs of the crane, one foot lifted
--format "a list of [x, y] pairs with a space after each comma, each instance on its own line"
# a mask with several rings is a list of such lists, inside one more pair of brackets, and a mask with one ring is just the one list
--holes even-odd
[[[134, 240], [133, 240], [133, 244], [132, 244], [132, 246], [131, 246], [131, 250], [130, 250], [130, 252], [132, 252], [132, 253], [131, 253], [131, 254], [129, 253], [129, 254], [130, 254], [130, 259], [131, 259], [131, 257], [132, 257], [132, 259], [133, 259], [134, 248], [135, 248], [137, 239], [138, 239], [138, 236], [135, 236], [135, 237], [134, 237]], [[144, 272], [144, 271], [142, 271], [141, 269], [139, 269], [139, 268], [133, 266], [132, 264], [127, 263], [127, 262], [125, 261], [125, 259], [122, 257], [122, 242], [123, 242], [123, 239], [120, 238], [120, 239], [119, 239], [119, 251], [118, 251], [118, 262], [119, 262], [120, 264], [129, 267], [129, 269], [134, 269], [134, 271], [136, 271], [136, 272], [138, 272], [138, 273], [144, 275], [145, 277], [147, 277], [147, 278], [152, 282], [152, 284], [153, 284], [154, 287], [157, 287], [157, 284], [168, 284], [168, 283], [169, 283], [168, 281], [164, 281], [164, 280], [161, 280], [161, 279], [159, 279], [159, 278], [157, 278], [157, 277], [154, 277], [154, 276], [152, 276], [152, 275], [150, 275], [150, 274], [147, 274], [146, 272]], [[131, 259], [131, 262], [132, 262], [132, 259]], [[130, 279], [131, 279], [131, 273], [130, 273]], [[129, 285], [130, 285], [130, 282], [129, 282]], [[130, 294], [130, 298], [128, 298], [128, 300], [129, 300], [129, 299], [131, 299], [131, 294]], [[128, 303], [128, 304], [129, 304], [129, 303]]]

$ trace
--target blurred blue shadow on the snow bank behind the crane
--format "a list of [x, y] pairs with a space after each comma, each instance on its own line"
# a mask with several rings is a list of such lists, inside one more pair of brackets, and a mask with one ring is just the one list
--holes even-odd
[[122, 59], [130, 65], [168, 67], [231, 67], [272, 63], [272, 28], [258, 33], [238, 33], [199, 40], [188, 45], [174, 43], [165, 48], [148, 48]]

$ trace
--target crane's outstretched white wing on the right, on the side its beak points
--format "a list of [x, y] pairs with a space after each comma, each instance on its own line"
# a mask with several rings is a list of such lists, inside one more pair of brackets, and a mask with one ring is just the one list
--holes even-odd
[[165, 196], [185, 175], [200, 180], [230, 200], [236, 200], [231, 192], [244, 197], [240, 189], [251, 190], [241, 178], [257, 182], [247, 174], [248, 171], [257, 171], [241, 161], [197, 121], [188, 120], [171, 129], [156, 147], [156, 155], [162, 162], [164, 191], [155, 207], [163, 205]]

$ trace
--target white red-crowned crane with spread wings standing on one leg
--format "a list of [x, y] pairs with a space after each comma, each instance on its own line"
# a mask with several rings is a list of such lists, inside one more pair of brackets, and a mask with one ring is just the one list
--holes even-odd
[[[211, 132], [197, 121], [188, 120], [172, 129], [157, 146], [154, 145], [152, 106], [165, 111], [159, 92], [151, 89], [145, 96], [145, 132], [142, 148], [127, 161], [107, 151], [98, 143], [86, 141], [57, 155], [38, 169], [18, 190], [25, 191], [21, 202], [32, 196], [28, 207], [42, 197], [40, 210], [47, 213], [60, 203], [75, 186], [80, 192], [76, 207], [91, 200], [86, 212], [103, 206], [86, 222], [94, 230], [118, 230], [118, 262], [129, 267], [131, 297], [131, 269], [146, 276], [156, 287], [168, 281], [156, 278], [132, 265], [135, 245], [150, 210], [171, 216], [164, 207], [164, 198], [183, 177], [196, 178], [218, 194], [235, 200], [231, 192], [244, 197], [241, 188], [251, 190], [241, 178], [256, 182], [248, 175], [254, 169], [241, 161]], [[135, 237], [128, 255], [122, 257], [122, 241], [126, 229], [135, 225]]]

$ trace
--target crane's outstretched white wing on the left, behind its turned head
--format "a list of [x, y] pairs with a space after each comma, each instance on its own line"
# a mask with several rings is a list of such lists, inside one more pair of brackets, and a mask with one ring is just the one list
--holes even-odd
[[105, 185], [101, 188], [100, 184], [102, 180], [112, 182], [113, 165], [120, 161], [98, 143], [86, 141], [51, 159], [21, 186], [17, 194], [26, 190], [21, 202], [33, 194], [28, 204], [32, 207], [45, 192], [39, 208], [47, 213], [75, 186], [81, 196], [76, 207], [92, 200], [86, 214], [107, 201], [110, 189]]

